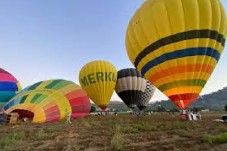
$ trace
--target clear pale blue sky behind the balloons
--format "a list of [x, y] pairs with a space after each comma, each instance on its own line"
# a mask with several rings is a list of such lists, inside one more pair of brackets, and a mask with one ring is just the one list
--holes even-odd
[[[79, 71], [93, 60], [117, 70], [133, 67], [125, 48], [130, 18], [145, 0], [2, 0], [0, 68], [22, 87], [49, 79], [79, 84]], [[227, 1], [221, 0], [227, 9]], [[227, 86], [227, 47], [201, 95]], [[151, 102], [167, 97], [156, 90]], [[113, 94], [111, 100], [121, 99]]]

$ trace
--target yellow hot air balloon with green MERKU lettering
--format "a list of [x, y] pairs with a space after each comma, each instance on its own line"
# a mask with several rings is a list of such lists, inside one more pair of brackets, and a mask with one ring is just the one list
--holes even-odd
[[114, 92], [117, 70], [107, 61], [92, 61], [81, 70], [79, 81], [91, 100], [105, 110]]

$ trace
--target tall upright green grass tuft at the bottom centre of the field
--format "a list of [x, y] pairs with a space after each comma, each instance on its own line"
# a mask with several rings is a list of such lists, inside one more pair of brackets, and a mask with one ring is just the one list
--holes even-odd
[[120, 126], [116, 125], [113, 132], [114, 134], [111, 139], [111, 147], [114, 150], [122, 150], [124, 148], [124, 138], [121, 134]]

